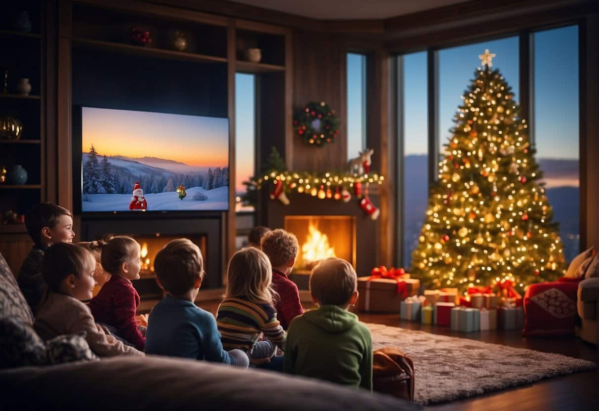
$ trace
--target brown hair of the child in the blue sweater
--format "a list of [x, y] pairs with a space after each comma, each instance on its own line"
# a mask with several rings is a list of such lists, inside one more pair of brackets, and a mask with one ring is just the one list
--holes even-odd
[[156, 254], [154, 270], [165, 291], [182, 295], [204, 276], [204, 259], [196, 244], [187, 238], [177, 238]]

